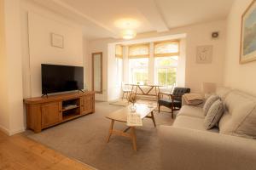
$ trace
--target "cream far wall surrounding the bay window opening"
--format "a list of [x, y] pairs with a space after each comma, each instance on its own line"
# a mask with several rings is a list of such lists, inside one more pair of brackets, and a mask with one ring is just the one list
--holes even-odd
[[[220, 36], [218, 39], [212, 40], [212, 31], [219, 31]], [[183, 34], [186, 33], [187, 37], [182, 41], [183, 51], [182, 54], [185, 55], [185, 59], [182, 61], [186, 65], [185, 69], [185, 81], [186, 87], [191, 88], [192, 92], [201, 93], [202, 82], [215, 82], [218, 86], [223, 85], [223, 66], [224, 66], [224, 55], [225, 55], [225, 37], [226, 37], [226, 21], [219, 20], [209, 23], [203, 23], [195, 26], [186, 26], [182, 28], [173, 29], [164, 33], [147, 33], [143, 35], [138, 35], [137, 39], [148, 38], [148, 37], [160, 37], [166, 35]], [[120, 42], [120, 40], [114, 39], [102, 39], [89, 42], [89, 51], [91, 52], [103, 52], [103, 92], [102, 96], [98, 99], [107, 100], [106, 96], [108, 92], [108, 79], [107, 79], [107, 59], [108, 56], [108, 43], [110, 42]], [[213, 56], [212, 64], [196, 64], [196, 47], [201, 45], [212, 45], [213, 46]], [[90, 57], [87, 57], [90, 63]], [[127, 61], [125, 61], [127, 62]], [[125, 68], [127, 70], [127, 68]], [[106, 71], [106, 72], [105, 72]], [[90, 76], [90, 71], [87, 72]], [[104, 76], [105, 75], [105, 76]], [[183, 82], [180, 82], [183, 83]]]

